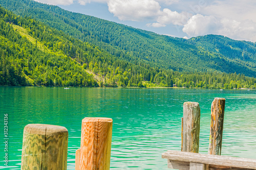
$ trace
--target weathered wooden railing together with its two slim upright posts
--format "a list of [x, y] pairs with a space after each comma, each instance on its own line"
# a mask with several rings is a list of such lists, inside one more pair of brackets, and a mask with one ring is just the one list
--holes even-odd
[[168, 168], [184, 170], [256, 169], [256, 159], [220, 156], [224, 110], [225, 99], [215, 98], [211, 104], [208, 155], [198, 154], [200, 133], [199, 103], [185, 102], [183, 104], [181, 151], [167, 151], [162, 154], [162, 158], [167, 159]]

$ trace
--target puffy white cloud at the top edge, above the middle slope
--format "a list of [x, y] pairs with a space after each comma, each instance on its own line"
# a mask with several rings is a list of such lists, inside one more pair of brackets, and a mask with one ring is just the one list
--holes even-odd
[[109, 11], [120, 20], [152, 20], [160, 14], [160, 5], [154, 0], [109, 0]]

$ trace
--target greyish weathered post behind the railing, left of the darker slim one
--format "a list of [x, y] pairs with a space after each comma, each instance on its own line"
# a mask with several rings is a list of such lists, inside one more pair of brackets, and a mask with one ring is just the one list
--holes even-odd
[[197, 102], [183, 104], [182, 149], [185, 152], [199, 151], [200, 107]]

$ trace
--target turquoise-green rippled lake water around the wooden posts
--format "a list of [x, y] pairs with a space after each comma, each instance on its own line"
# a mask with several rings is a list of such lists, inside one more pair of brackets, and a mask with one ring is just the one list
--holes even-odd
[[[256, 90], [0, 87], [0, 169], [20, 169], [27, 124], [66, 127], [68, 169], [74, 169], [84, 117], [113, 119], [111, 169], [167, 169], [161, 154], [181, 149], [184, 102], [200, 104], [199, 152], [207, 154], [216, 97], [226, 99], [222, 155], [256, 159]], [[6, 113], [8, 166], [3, 162]]]

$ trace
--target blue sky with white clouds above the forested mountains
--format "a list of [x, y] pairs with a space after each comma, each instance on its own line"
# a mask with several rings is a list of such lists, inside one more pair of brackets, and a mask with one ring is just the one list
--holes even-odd
[[37, 0], [175, 37], [217, 34], [256, 41], [254, 0]]

